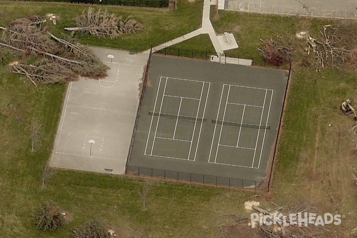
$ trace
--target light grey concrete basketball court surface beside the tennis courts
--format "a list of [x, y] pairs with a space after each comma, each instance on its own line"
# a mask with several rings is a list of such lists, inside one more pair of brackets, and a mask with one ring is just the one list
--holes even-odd
[[50, 166], [124, 174], [149, 55], [91, 49], [108, 76], [69, 83]]

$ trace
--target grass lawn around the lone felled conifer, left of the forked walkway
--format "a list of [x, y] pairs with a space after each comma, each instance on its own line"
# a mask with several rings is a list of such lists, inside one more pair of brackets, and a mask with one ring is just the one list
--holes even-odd
[[146, 7], [1, 1], [0, 25], [7, 26], [12, 20], [27, 15], [45, 16], [48, 13], [53, 13], [57, 16], [57, 25], [49, 24], [49, 30], [57, 36], [70, 35], [69, 32], [64, 32], [64, 27], [74, 26], [73, 18], [91, 6], [94, 9], [107, 9], [110, 13], [123, 16], [123, 19], [132, 15], [145, 26], [145, 30], [133, 35], [124, 35], [115, 40], [110, 38], [98, 40], [93, 36], [77, 36], [81, 43], [144, 51], [150, 49], [151, 45], [160, 45], [198, 29], [202, 21], [202, 5], [202, 1], [187, 2], [182, 0], [178, 1], [178, 9], [173, 11]]

